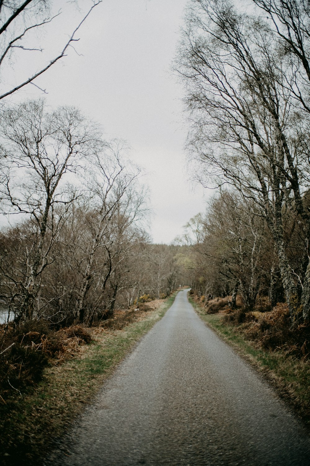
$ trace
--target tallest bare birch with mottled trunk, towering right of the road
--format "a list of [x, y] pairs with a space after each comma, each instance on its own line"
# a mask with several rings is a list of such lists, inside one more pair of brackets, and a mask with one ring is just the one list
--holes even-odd
[[291, 90], [296, 67], [277, 49], [275, 33], [263, 19], [238, 13], [225, 0], [191, 5], [178, 56], [191, 111], [189, 146], [209, 179], [231, 183], [255, 202], [275, 241], [292, 321], [301, 310], [307, 319], [308, 298], [304, 295], [300, 306], [283, 218], [285, 206], [295, 210], [307, 244], [303, 192], [309, 163], [296, 129], [307, 127], [308, 120], [298, 113]]

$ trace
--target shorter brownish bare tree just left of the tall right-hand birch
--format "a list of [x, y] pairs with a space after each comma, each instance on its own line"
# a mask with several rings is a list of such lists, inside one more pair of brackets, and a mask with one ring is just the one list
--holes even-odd
[[214, 266], [226, 277], [232, 295], [239, 289], [245, 308], [253, 308], [264, 284], [263, 258], [270, 249], [267, 244], [271, 238], [263, 219], [255, 215], [255, 206], [253, 209], [238, 193], [223, 191], [211, 199], [204, 225], [204, 241], [210, 245], [212, 255], [220, 259]]

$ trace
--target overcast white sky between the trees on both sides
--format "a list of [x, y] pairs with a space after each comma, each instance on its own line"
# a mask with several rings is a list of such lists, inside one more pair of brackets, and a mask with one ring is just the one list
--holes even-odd
[[[80, 2], [85, 10], [91, 4]], [[71, 49], [35, 81], [48, 92], [48, 103], [78, 106], [102, 125], [106, 138], [123, 138], [131, 146], [130, 158], [148, 173], [144, 182], [151, 190], [154, 242], [173, 241], [205, 206], [206, 190], [198, 185], [193, 191], [187, 181], [182, 89], [169, 70], [185, 4], [186, 0], [103, 0], [79, 31], [76, 49], [83, 55]], [[59, 49], [79, 22], [80, 14], [74, 9], [70, 13], [65, 1], [54, 1], [58, 6], [63, 12], [46, 33], [46, 53]], [[26, 58], [25, 70], [27, 66]], [[13, 83], [13, 74], [6, 79]], [[40, 95], [28, 85], [12, 100]]]

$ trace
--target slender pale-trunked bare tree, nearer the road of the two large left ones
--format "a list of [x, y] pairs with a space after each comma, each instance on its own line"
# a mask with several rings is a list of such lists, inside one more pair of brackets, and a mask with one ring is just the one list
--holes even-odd
[[112, 314], [120, 287], [117, 264], [125, 259], [131, 244], [127, 237], [129, 230], [142, 213], [145, 193], [135, 187], [140, 169], [125, 160], [122, 154], [125, 149], [123, 142], [113, 140], [88, 160], [84, 178], [92, 208], [87, 214], [90, 235], [85, 242], [83, 280], [77, 302], [80, 322], [86, 318], [85, 299], [96, 274], [102, 290], [108, 282], [112, 286], [108, 304]]

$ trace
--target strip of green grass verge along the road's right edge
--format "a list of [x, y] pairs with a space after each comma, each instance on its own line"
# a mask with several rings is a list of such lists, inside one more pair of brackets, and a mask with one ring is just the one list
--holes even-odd
[[284, 350], [268, 351], [257, 348], [255, 341], [246, 339], [242, 328], [225, 324], [221, 314], [205, 314], [204, 309], [189, 297], [200, 318], [240, 356], [248, 360], [297, 411], [310, 428], [310, 361], [288, 356]]

